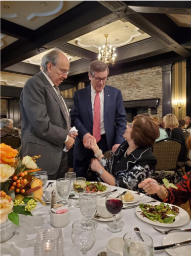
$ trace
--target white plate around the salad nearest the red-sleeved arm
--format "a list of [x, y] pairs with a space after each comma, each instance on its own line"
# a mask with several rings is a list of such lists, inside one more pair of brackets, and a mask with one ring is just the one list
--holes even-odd
[[[149, 204], [149, 205], [159, 205], [159, 204], [161, 204], [161, 202], [147, 203], [147, 204]], [[173, 206], [173, 205], [169, 204], [169, 206]], [[178, 207], [178, 206], [176, 206], [176, 207]], [[143, 217], [141, 215], [142, 210], [139, 208], [139, 206], [137, 206], [137, 208], [135, 209], [135, 214], [142, 221], [144, 221], [146, 223], [149, 223], [151, 225], [160, 226], [160, 227], [175, 228], [175, 227], [183, 226], [184, 224], [186, 224], [189, 221], [188, 213], [180, 207], [178, 207], [178, 209], [179, 209], [179, 213], [175, 217], [175, 221], [173, 223], [161, 223], [159, 221], [152, 221], [152, 220], [148, 219], [147, 217]]]

